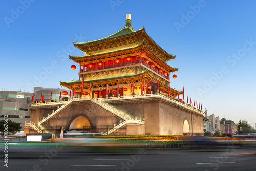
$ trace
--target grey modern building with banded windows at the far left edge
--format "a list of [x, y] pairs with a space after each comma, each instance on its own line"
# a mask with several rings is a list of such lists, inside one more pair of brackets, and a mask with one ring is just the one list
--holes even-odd
[[0, 120], [8, 115], [8, 119], [16, 123], [21, 123], [24, 129], [24, 122], [30, 120], [30, 101], [33, 93], [21, 91], [0, 91]]

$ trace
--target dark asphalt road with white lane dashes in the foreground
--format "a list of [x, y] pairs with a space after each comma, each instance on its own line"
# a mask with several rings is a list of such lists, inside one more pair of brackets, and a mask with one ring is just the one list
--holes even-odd
[[12, 147], [8, 167], [0, 150], [0, 170], [256, 170], [255, 148], [88, 153], [75, 147]]

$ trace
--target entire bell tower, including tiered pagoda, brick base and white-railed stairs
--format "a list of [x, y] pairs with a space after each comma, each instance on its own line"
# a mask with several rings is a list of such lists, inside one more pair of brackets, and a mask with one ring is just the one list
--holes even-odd
[[79, 66], [78, 80], [60, 85], [79, 98], [32, 104], [25, 134], [58, 136], [62, 127], [103, 135], [203, 135], [202, 111], [182, 101], [182, 88], [170, 87], [178, 68], [167, 62], [176, 56], [157, 45], [144, 27], [135, 31], [131, 22], [127, 14], [126, 25], [116, 33], [74, 42], [84, 54], [69, 56]]

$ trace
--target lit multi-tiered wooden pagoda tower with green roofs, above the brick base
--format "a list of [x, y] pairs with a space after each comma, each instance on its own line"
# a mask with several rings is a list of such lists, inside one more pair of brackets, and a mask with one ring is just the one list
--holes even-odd
[[61, 86], [75, 90], [80, 97], [94, 98], [104, 98], [110, 93], [114, 97], [151, 92], [171, 97], [182, 94], [168, 87], [170, 75], [178, 68], [170, 67], [166, 62], [175, 56], [159, 47], [144, 27], [133, 30], [130, 14], [126, 18], [125, 27], [110, 36], [74, 43], [84, 53], [84, 56], [69, 56], [80, 66], [79, 78], [60, 82]]

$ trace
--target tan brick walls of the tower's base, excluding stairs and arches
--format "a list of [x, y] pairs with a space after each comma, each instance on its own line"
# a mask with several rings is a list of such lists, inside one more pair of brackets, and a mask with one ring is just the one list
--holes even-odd
[[[143, 120], [145, 118], [145, 126], [127, 125], [126, 129], [120, 129], [113, 133], [121, 134], [147, 134], [147, 135], [183, 135], [183, 124], [187, 120], [191, 135], [203, 135], [203, 115], [184, 106], [177, 105], [159, 97], [146, 99], [126, 99], [107, 101], [116, 110], [120, 110], [121, 114], [126, 114], [129, 119]], [[31, 121], [37, 123], [38, 118], [47, 117], [52, 110], [56, 110], [57, 106], [51, 108], [31, 108]], [[115, 125], [120, 124], [122, 118], [106, 111], [100, 106], [90, 101], [72, 102], [64, 110], [60, 111], [53, 118], [40, 126], [40, 129], [54, 130], [56, 126], [64, 127], [69, 130], [71, 122], [83, 116], [90, 122], [91, 128], [96, 129], [98, 133], [105, 133], [108, 128], [112, 129]]]

